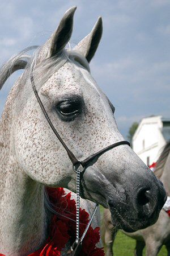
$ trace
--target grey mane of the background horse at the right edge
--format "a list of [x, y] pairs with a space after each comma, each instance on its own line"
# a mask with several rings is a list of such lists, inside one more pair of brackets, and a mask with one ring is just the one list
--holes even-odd
[[161, 155], [159, 156], [159, 159], [156, 164], [154, 174], [156, 175], [156, 177], [158, 177], [158, 179], [160, 179], [160, 177], [163, 174], [164, 165], [167, 161], [169, 152], [170, 152], [170, 141], [167, 142], [167, 144], [164, 146], [164, 149], [163, 149]]

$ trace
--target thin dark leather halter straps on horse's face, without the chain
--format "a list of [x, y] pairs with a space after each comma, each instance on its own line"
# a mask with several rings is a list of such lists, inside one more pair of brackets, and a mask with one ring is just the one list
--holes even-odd
[[79, 161], [78, 159], [76, 159], [73, 152], [69, 149], [69, 147], [66, 146], [65, 142], [62, 140], [62, 138], [58, 134], [57, 130], [53, 126], [53, 123], [50, 121], [50, 118], [49, 118], [48, 114], [46, 113], [44, 105], [42, 104], [42, 101], [41, 101], [41, 99], [39, 97], [39, 94], [37, 93], [37, 90], [36, 90], [36, 87], [35, 87], [35, 82], [33, 80], [33, 68], [32, 68], [32, 71], [31, 71], [30, 78], [31, 78], [31, 84], [32, 84], [33, 92], [35, 93], [35, 96], [37, 98], [37, 101], [39, 102], [39, 105], [42, 109], [42, 112], [44, 113], [45, 118], [48, 121], [50, 127], [52, 128], [54, 134], [56, 135], [58, 140], [61, 142], [62, 146], [65, 148], [65, 150], [67, 152], [67, 155], [69, 156], [71, 162], [73, 163], [74, 171], [76, 171], [79, 166], [82, 166], [83, 167], [82, 171], [85, 171], [86, 167], [87, 167], [87, 164], [92, 162], [92, 160], [93, 160], [92, 164], [94, 164], [97, 161], [97, 159], [99, 158], [99, 156], [103, 155], [105, 152], [107, 152], [108, 150], [111, 150], [114, 147], [124, 145], [124, 144], [127, 144], [128, 146], [130, 146], [130, 143], [128, 141], [120, 141], [120, 142], [113, 143], [113, 144], [101, 149], [100, 151], [96, 152], [95, 154], [92, 154], [92, 155], [88, 156], [88, 158], [86, 158], [82, 161]]

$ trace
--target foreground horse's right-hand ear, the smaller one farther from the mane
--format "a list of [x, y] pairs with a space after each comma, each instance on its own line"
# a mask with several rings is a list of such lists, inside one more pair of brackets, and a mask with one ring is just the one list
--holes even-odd
[[99, 17], [90, 34], [83, 38], [82, 41], [80, 41], [78, 45], [74, 48], [75, 50], [83, 53], [84, 57], [86, 57], [88, 62], [90, 62], [92, 57], [95, 55], [96, 49], [99, 46], [102, 31], [102, 19], [101, 17]]

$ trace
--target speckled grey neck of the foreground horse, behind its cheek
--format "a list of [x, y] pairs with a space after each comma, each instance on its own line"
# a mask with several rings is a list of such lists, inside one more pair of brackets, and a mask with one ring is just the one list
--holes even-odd
[[0, 122], [0, 253], [28, 255], [46, 238], [44, 186], [25, 174], [15, 156], [15, 96], [14, 88]]

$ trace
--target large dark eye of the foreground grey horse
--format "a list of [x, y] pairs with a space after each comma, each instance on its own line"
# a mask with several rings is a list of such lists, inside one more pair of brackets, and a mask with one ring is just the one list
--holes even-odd
[[82, 106], [79, 101], [63, 101], [57, 105], [58, 112], [62, 117], [76, 117], [82, 112]]

